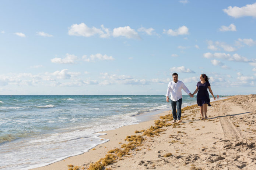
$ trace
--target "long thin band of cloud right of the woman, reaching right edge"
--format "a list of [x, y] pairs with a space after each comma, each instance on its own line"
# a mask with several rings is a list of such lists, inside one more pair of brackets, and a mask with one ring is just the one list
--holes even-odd
[[237, 61], [237, 62], [255, 62], [255, 59], [248, 59], [246, 57], [242, 57], [239, 54], [233, 54], [232, 56], [230, 54], [226, 53], [204, 53], [203, 54], [204, 58], [222, 58], [222, 59], [227, 59], [229, 61]]

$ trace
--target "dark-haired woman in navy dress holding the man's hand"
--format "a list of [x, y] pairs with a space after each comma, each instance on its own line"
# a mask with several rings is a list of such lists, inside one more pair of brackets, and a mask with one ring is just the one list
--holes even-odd
[[198, 91], [197, 96], [196, 96], [196, 100], [197, 100], [197, 105], [200, 106], [200, 112], [201, 112], [201, 115], [202, 115], [201, 120], [203, 120], [204, 117], [205, 117], [205, 119], [207, 119], [207, 115], [206, 115], [207, 105], [211, 106], [210, 105], [209, 93], [207, 91], [207, 88], [209, 89], [209, 91], [210, 91], [211, 95], [213, 96], [214, 100], [215, 100], [215, 97], [213, 95], [213, 91], [211, 91], [211, 85], [208, 81], [209, 78], [205, 74], [201, 74], [200, 80], [201, 81], [196, 84], [196, 90], [194, 91], [194, 93], [192, 95], [196, 94], [197, 91]]

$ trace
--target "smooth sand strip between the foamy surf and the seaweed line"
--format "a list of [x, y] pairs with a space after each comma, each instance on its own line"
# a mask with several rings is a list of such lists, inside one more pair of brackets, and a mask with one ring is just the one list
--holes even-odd
[[[218, 101], [221, 101], [221, 100], [218, 100]], [[152, 114], [154, 112], [158, 112], [158, 113], [157, 114]], [[147, 115], [148, 113], [151, 113], [151, 114]], [[139, 114], [139, 115], [135, 115], [136, 117], [143, 117], [145, 115], [147, 120], [145, 120], [145, 119], [144, 119], [144, 121], [143, 120], [138, 120], [137, 124], [122, 126], [122, 127], [119, 127], [118, 129], [114, 129], [114, 130], [98, 132], [98, 133], [102, 133], [102, 135], [100, 135], [99, 138], [108, 139], [108, 141], [104, 142], [103, 144], [98, 144], [96, 147], [89, 149], [88, 152], [84, 152], [84, 153], [81, 153], [79, 155], [68, 156], [65, 159], [59, 160], [57, 162], [50, 163], [46, 166], [41, 166], [41, 167], [32, 168], [32, 169], [33, 170], [55, 169], [56, 166], [57, 166], [57, 169], [66, 170], [66, 169], [68, 169], [67, 164], [76, 164], [76, 165], [79, 165], [79, 166], [83, 165], [81, 162], [83, 162], [82, 159], [84, 159], [84, 158], [87, 159], [87, 162], [96, 162], [97, 159], [99, 159], [99, 157], [104, 157], [104, 155], [106, 155], [108, 149], [111, 149], [112, 146], [120, 145], [119, 143], [122, 140], [124, 140], [127, 135], [134, 134], [135, 130], [140, 130], [141, 128], [142, 129], [147, 129], [152, 124], [154, 124], [154, 121], [159, 119], [160, 116], [164, 116], [164, 115], [167, 115], [167, 114], [170, 114], [170, 111], [168, 111], [168, 110], [167, 111], [161, 111], [160, 110], [160, 111], [145, 112], [145, 113], [142, 113], [142, 114]], [[123, 134], [120, 134], [119, 131], [121, 131]], [[116, 137], [118, 137], [119, 139], [116, 139]], [[116, 142], [113, 142], [113, 140], [117, 140], [119, 142], [116, 143]], [[104, 147], [104, 151], [102, 151], [102, 152], [96, 152], [95, 151], [95, 150], [99, 150], [99, 149], [102, 150], [102, 147]], [[90, 154], [88, 154], [88, 153], [92, 152], [92, 151], [95, 152], [94, 154], [101, 155], [101, 156], [98, 156], [97, 159], [95, 159], [95, 158], [94, 159], [91, 159], [91, 158], [88, 159], [88, 157], [91, 157], [91, 153]]]

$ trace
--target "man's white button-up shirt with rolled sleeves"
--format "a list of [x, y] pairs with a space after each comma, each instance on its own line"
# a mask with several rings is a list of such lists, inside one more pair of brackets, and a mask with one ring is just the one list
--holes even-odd
[[170, 99], [172, 101], [178, 101], [179, 99], [182, 98], [181, 89], [183, 89], [187, 94], [190, 93], [189, 89], [187, 89], [187, 87], [185, 86], [185, 84], [182, 81], [178, 80], [177, 83], [171, 81], [168, 84], [167, 93], [165, 96], [167, 97], [171, 93]]

